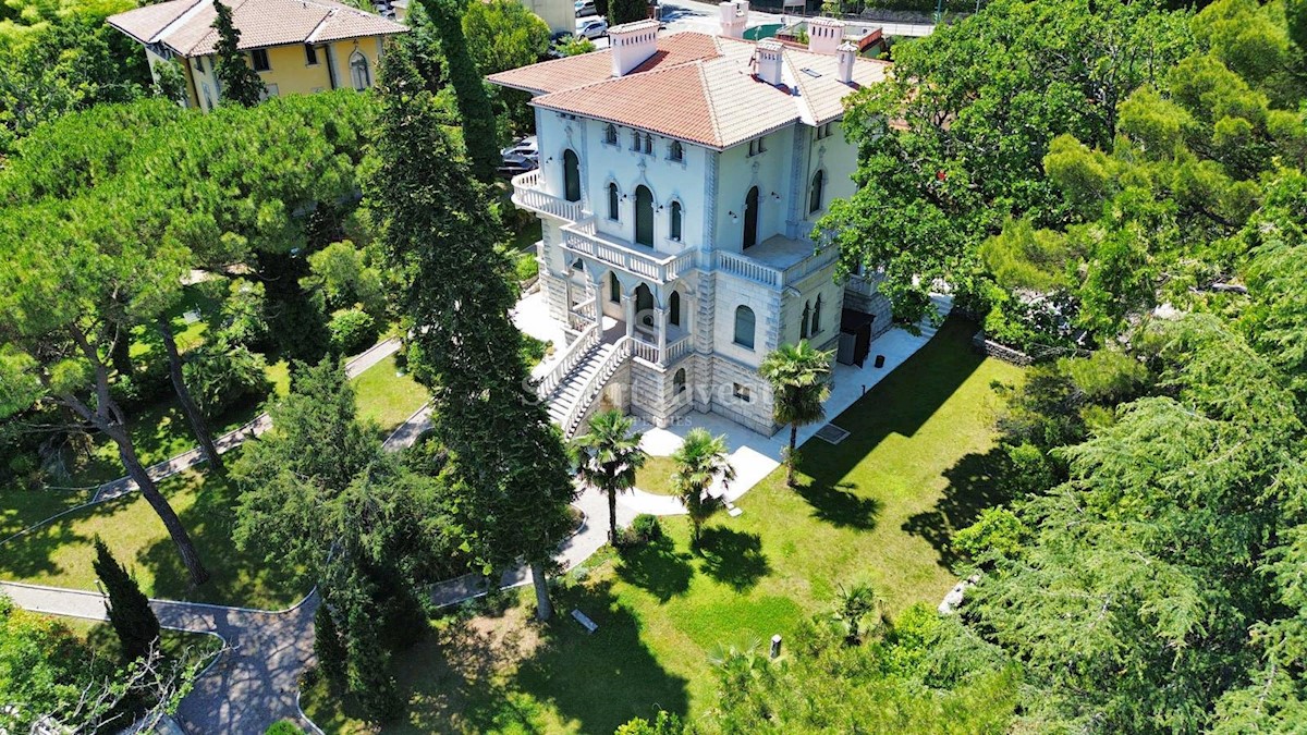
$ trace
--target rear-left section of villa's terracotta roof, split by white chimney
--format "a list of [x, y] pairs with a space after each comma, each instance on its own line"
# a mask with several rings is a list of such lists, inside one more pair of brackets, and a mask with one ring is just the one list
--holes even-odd
[[[720, 55], [721, 51], [718, 48], [715, 37], [702, 33], [664, 35], [657, 39], [657, 51], [631, 73], [652, 72]], [[550, 59], [529, 67], [508, 69], [490, 75], [488, 78], [502, 86], [549, 94], [613, 78], [613, 58], [612, 51], [605, 48], [604, 51]]]

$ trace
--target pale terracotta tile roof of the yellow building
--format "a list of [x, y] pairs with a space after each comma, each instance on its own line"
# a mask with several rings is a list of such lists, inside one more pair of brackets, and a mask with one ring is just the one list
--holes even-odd
[[[335, 0], [223, 0], [240, 30], [240, 48], [290, 43], [327, 43], [348, 38], [406, 33], [408, 27]], [[161, 8], [167, 7], [167, 10]], [[173, 0], [108, 18], [142, 43], [162, 42], [182, 56], [213, 54], [217, 12], [209, 0]]]

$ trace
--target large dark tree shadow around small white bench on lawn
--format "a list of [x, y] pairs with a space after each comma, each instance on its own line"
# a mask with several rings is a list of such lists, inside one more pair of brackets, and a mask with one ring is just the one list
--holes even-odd
[[[659, 709], [685, 717], [687, 681], [664, 670], [640, 640], [640, 620], [618, 602], [610, 579], [555, 590], [554, 604], [557, 615], [518, 672], [518, 687], [552, 702], [582, 732], [612, 732]], [[589, 616], [599, 630], [587, 633], [572, 609]]]

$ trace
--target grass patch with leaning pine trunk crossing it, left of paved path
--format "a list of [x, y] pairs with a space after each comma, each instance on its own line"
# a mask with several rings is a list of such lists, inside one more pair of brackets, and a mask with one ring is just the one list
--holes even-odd
[[161, 481], [159, 490], [212, 574], [203, 587], [191, 589], [176, 547], [140, 493], [71, 513], [4, 544], [0, 578], [94, 590], [91, 541], [99, 535], [154, 598], [280, 609], [307, 591], [285, 566], [235, 549], [235, 489], [225, 481], [191, 471]]

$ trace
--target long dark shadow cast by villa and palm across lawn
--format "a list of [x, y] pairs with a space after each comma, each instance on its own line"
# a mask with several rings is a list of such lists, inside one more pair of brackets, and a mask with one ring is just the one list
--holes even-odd
[[[843, 413], [830, 419], [850, 432], [839, 445], [804, 443], [799, 470], [812, 477], [797, 488], [813, 517], [835, 526], [869, 530], [881, 507], [848, 475], [893, 434], [912, 437], [985, 361], [971, 348], [978, 326], [949, 316], [931, 341]], [[876, 352], [876, 343], [872, 343]]]

